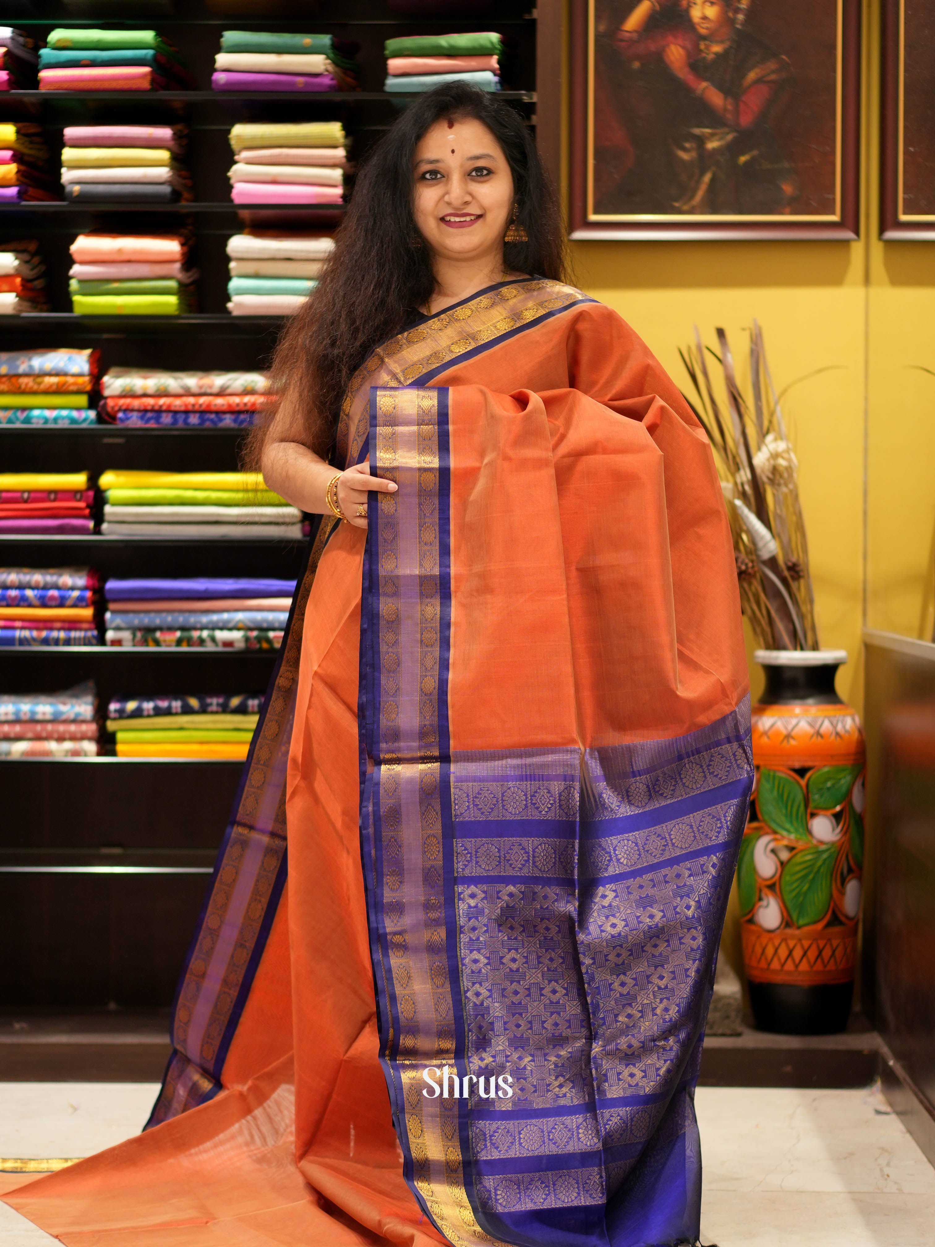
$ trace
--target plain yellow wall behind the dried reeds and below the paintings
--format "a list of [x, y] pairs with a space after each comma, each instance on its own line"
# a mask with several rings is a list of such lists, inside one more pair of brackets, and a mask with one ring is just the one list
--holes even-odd
[[[578, 0], [571, 0], [578, 2]], [[935, 520], [935, 243], [883, 243], [878, 218], [879, 0], [864, 11], [859, 242], [572, 243], [578, 284], [616, 308], [672, 377], [697, 324], [708, 342], [762, 327], [777, 387], [834, 365], [784, 403], [800, 464], [819, 637], [850, 662], [860, 630], [930, 636]], [[760, 683], [752, 671], [754, 692]]]

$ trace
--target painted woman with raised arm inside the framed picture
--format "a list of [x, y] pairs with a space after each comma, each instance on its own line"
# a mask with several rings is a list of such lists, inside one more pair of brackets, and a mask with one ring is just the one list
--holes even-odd
[[[788, 212], [798, 180], [770, 130], [792, 65], [743, 29], [749, 0], [681, 0], [689, 26], [650, 20], [673, 0], [637, 0], [613, 36], [630, 75], [653, 81], [652, 123], [615, 209], [763, 216]], [[662, 76], [662, 82], [659, 82]], [[621, 196], [626, 207], [621, 207]]]

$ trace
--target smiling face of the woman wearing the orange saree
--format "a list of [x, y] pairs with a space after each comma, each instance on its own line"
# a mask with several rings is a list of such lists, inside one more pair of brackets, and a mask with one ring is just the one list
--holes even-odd
[[480, 121], [436, 121], [415, 150], [413, 212], [436, 256], [486, 261], [502, 252], [512, 173]]

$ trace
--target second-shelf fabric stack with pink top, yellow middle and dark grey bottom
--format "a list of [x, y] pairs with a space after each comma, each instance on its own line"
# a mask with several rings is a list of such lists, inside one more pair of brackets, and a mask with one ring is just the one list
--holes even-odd
[[[176, 203], [192, 198], [192, 182], [180, 156], [182, 126], [66, 126], [61, 180], [66, 200], [87, 203]], [[100, 283], [95, 283], [100, 284]], [[140, 294], [172, 291], [138, 289]], [[81, 294], [110, 291], [80, 289]]]

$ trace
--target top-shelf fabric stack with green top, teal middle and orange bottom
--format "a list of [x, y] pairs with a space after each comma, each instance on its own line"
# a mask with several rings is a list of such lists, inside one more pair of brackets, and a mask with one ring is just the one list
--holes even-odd
[[194, 79], [155, 30], [49, 32], [39, 54], [40, 91], [189, 91]]

